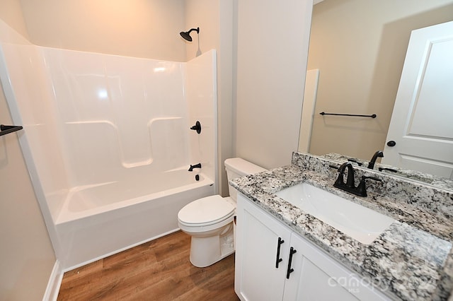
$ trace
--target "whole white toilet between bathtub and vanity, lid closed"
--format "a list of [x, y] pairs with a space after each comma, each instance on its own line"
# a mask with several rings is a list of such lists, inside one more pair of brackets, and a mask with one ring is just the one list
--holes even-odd
[[[225, 170], [229, 180], [265, 171], [241, 158], [226, 159]], [[190, 262], [194, 266], [210, 266], [234, 253], [237, 191], [231, 185], [228, 188], [229, 197], [207, 196], [188, 203], [178, 212], [179, 228], [192, 237]]]

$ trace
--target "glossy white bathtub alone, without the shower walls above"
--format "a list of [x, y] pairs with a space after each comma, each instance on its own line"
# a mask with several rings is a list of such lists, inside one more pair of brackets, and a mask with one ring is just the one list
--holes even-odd
[[211, 179], [186, 169], [71, 189], [55, 220], [64, 270], [178, 230], [180, 208], [214, 192]]

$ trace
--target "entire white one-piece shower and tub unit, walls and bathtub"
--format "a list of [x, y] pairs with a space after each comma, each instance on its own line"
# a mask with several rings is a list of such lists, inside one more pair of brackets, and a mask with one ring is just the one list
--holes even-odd
[[214, 50], [180, 63], [1, 37], [1, 82], [62, 270], [178, 230], [180, 208], [217, 193]]

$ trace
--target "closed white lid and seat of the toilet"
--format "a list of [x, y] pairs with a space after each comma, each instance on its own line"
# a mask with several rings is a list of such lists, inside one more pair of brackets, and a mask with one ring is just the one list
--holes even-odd
[[207, 196], [185, 205], [178, 213], [178, 220], [185, 224], [211, 225], [232, 216], [234, 209], [222, 196]]

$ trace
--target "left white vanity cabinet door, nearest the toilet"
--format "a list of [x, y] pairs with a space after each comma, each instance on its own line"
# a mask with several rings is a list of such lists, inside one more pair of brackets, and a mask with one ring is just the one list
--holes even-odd
[[237, 202], [234, 290], [241, 300], [282, 300], [291, 232], [242, 194]]

